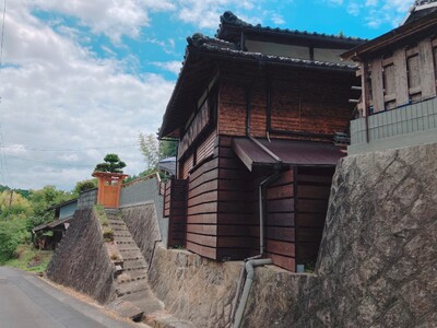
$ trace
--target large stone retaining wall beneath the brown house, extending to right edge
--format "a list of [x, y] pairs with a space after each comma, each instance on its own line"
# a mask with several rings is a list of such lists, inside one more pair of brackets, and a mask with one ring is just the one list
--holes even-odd
[[[243, 327], [435, 327], [436, 154], [433, 144], [342, 160], [315, 274], [257, 268]], [[150, 274], [175, 315], [228, 327], [238, 271], [158, 248]]]

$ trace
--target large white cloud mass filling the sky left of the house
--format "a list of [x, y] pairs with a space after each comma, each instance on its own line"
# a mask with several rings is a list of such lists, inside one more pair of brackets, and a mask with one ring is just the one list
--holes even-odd
[[1, 149], [8, 184], [71, 189], [107, 152], [127, 162], [128, 174], [144, 169], [138, 134], [156, 132], [174, 82], [94, 57], [22, 3], [10, 4], [5, 26], [0, 124], [11, 147]]

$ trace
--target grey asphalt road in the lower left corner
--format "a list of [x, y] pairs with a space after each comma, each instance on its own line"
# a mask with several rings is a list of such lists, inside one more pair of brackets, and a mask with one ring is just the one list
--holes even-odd
[[36, 276], [0, 267], [0, 328], [146, 327], [114, 319]]

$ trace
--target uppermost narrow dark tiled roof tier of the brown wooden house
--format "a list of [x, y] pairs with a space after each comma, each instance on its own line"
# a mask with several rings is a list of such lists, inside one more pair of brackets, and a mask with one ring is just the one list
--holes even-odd
[[277, 33], [285, 33], [285, 34], [296, 35], [296, 36], [315, 36], [315, 37], [323, 37], [323, 38], [328, 38], [328, 39], [330, 38], [330, 39], [344, 40], [344, 42], [367, 42], [368, 40], [366, 38], [350, 37], [350, 36], [344, 36], [344, 35], [333, 35], [333, 34], [297, 31], [297, 30], [288, 30], [288, 28], [277, 28], [277, 27], [272, 28], [270, 26], [261, 26], [260, 24], [252, 25], [252, 24], [249, 24], [249, 23], [238, 19], [238, 16], [235, 15], [231, 11], [226, 11], [223, 15], [220, 16], [220, 20], [221, 20], [222, 24], [221, 24], [220, 28], [217, 30], [216, 36], [220, 36], [223, 25], [234, 25], [234, 26], [258, 30], [260, 32], [277, 32]]

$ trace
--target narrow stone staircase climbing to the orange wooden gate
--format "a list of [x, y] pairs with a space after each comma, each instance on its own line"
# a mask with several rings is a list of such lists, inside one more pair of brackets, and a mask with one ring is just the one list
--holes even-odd
[[129, 233], [118, 210], [105, 209], [114, 242], [121, 259], [121, 270], [116, 279], [117, 298], [109, 304], [122, 317], [141, 319], [163, 311], [164, 306], [152, 293], [147, 282], [147, 265]]

